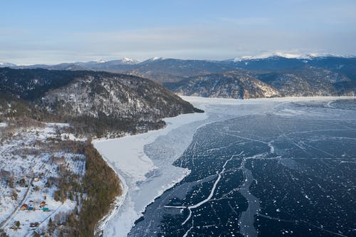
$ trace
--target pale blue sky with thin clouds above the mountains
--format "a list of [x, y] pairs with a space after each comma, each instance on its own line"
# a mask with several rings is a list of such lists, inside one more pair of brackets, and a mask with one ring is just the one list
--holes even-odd
[[355, 0], [0, 1], [0, 61], [356, 55]]

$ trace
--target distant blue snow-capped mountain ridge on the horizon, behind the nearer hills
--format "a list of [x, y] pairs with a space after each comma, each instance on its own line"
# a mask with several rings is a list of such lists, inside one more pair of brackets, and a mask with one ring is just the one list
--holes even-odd
[[304, 65], [337, 70], [356, 77], [356, 57], [336, 56], [327, 53], [262, 53], [242, 56], [230, 60], [182, 60], [154, 57], [142, 62], [132, 58], [120, 60], [93, 60], [89, 62], [60, 63], [57, 65], [16, 66], [3, 63], [2, 67], [46, 68], [50, 70], [105, 70], [113, 73], [141, 75], [157, 82], [172, 82], [189, 76], [223, 73], [237, 68], [247, 70], [283, 70], [300, 68]]

